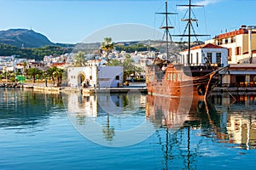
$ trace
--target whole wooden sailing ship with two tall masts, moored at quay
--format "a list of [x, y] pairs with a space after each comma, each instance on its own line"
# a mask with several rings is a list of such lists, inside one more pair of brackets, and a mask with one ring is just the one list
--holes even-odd
[[[206, 36], [206, 35], [192, 35], [190, 30], [194, 30], [192, 22], [196, 21], [191, 18], [191, 8], [197, 5], [192, 5], [191, 0], [189, 0], [189, 5], [183, 5], [189, 8], [189, 19], [183, 19], [187, 21], [187, 27], [189, 28], [188, 35], [177, 35], [188, 37], [188, 49], [187, 56], [190, 56], [190, 37]], [[165, 14], [166, 17], [169, 13], [167, 11], [167, 1], [166, 1], [166, 12], [159, 13]], [[167, 18], [166, 18], [167, 20]], [[199, 98], [207, 99], [212, 93], [212, 89], [221, 81], [224, 74], [228, 71], [229, 65], [220, 67], [220, 65], [212, 65], [211, 63], [205, 63], [203, 65], [191, 65], [189, 62], [185, 65], [184, 63], [171, 63], [168, 58], [168, 38], [170, 35], [169, 29], [173, 26], [168, 26], [166, 21], [166, 26], [160, 28], [165, 29], [166, 33], [166, 48], [167, 48], [167, 59], [154, 59], [152, 65], [148, 65], [148, 70], [146, 74], [146, 82], [148, 88], [148, 94], [160, 95], [172, 98]], [[170, 38], [171, 39], [171, 38]], [[206, 58], [205, 56], [203, 58]], [[188, 59], [189, 61], [189, 59]]]

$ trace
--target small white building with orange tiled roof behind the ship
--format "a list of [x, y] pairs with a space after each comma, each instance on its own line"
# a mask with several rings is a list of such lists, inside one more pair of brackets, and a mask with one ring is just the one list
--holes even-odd
[[180, 53], [182, 55], [181, 63], [184, 65], [211, 65], [226, 66], [228, 65], [228, 49], [212, 44], [201, 44], [190, 48], [190, 57], [188, 50]]

